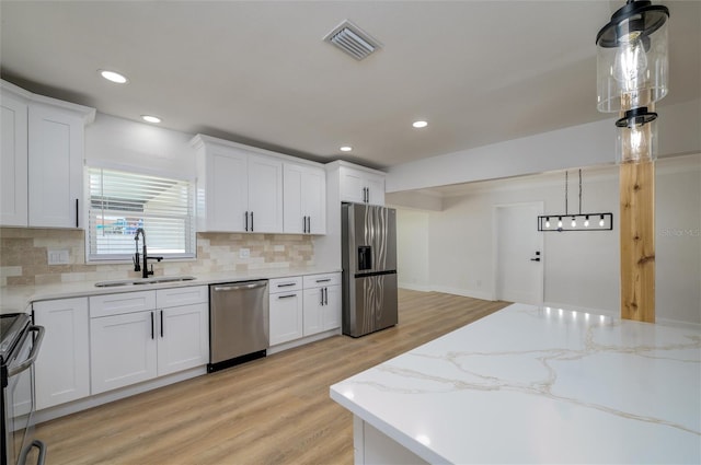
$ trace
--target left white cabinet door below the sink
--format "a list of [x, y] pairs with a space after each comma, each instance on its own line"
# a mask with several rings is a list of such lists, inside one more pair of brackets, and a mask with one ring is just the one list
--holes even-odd
[[156, 311], [90, 321], [92, 394], [157, 375]]

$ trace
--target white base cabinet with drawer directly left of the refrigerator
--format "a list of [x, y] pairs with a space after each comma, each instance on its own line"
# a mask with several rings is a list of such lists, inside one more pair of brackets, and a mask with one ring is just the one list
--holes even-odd
[[304, 276], [304, 336], [341, 327], [341, 274]]

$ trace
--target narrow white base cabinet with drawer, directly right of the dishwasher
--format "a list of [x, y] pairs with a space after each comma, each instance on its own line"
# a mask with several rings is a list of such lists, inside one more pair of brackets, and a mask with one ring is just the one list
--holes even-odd
[[302, 278], [271, 279], [268, 290], [271, 346], [302, 337]]

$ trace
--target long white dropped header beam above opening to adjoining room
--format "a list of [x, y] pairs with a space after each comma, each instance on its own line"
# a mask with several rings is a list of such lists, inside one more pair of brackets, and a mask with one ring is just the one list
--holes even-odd
[[[659, 158], [701, 152], [701, 100], [657, 109]], [[616, 162], [614, 119], [392, 166], [387, 191], [498, 179]]]

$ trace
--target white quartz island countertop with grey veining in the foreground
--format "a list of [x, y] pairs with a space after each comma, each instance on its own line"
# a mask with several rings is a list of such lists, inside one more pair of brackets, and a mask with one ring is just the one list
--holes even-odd
[[331, 386], [430, 463], [701, 463], [701, 330], [514, 304]]

